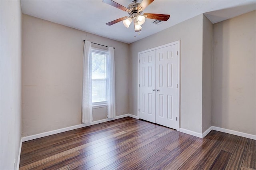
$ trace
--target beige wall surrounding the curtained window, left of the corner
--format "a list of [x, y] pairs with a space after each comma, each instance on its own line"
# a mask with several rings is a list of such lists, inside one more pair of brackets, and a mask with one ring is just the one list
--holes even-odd
[[81, 124], [84, 39], [115, 47], [116, 115], [128, 113], [128, 44], [23, 15], [22, 136]]

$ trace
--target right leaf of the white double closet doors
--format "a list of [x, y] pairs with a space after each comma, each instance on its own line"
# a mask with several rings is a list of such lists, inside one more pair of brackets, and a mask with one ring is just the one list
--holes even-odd
[[156, 49], [156, 123], [177, 129], [178, 45]]

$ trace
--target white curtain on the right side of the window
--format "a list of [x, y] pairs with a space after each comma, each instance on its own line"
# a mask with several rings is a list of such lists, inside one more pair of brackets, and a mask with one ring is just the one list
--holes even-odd
[[115, 92], [115, 60], [114, 48], [108, 47], [107, 59], [107, 101], [108, 101], [108, 118], [114, 118], [116, 115], [116, 92]]

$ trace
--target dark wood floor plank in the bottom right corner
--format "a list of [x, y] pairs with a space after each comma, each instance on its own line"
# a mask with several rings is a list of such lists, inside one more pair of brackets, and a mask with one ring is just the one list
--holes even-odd
[[256, 169], [256, 140], [248, 139], [243, 165]]

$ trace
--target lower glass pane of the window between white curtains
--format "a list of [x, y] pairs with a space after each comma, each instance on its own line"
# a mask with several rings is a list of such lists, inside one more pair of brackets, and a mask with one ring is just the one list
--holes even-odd
[[92, 103], [106, 101], [106, 80], [92, 79]]

